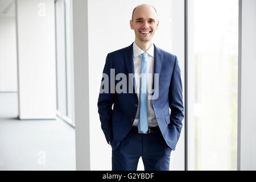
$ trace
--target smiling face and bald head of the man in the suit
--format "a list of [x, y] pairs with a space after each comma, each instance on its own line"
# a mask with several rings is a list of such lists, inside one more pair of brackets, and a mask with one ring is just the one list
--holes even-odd
[[158, 30], [155, 9], [150, 5], [140, 5], [134, 10], [133, 19], [130, 20], [130, 27], [135, 32], [135, 41], [150, 42]]

